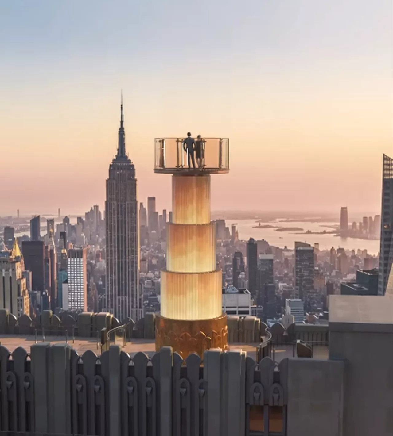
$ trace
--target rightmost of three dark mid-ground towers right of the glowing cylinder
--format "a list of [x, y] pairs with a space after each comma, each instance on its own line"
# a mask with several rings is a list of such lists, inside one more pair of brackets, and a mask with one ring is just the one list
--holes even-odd
[[295, 298], [308, 300], [314, 293], [314, 247], [295, 242]]

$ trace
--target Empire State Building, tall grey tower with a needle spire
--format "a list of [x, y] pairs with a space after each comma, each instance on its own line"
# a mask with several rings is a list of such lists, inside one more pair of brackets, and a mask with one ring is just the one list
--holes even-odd
[[137, 179], [125, 150], [123, 99], [116, 157], [107, 178], [106, 303], [119, 321], [142, 317], [139, 296], [139, 240]]

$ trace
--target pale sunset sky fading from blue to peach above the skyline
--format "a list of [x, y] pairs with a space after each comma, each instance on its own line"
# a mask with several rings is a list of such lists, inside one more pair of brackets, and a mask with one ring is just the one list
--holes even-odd
[[120, 92], [138, 197], [156, 136], [230, 138], [214, 210], [380, 208], [392, 0], [0, 0], [0, 215], [105, 199]]

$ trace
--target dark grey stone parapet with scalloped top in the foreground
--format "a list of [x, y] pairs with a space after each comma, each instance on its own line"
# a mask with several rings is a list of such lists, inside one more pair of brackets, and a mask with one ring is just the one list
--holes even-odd
[[[318, 413], [301, 434], [336, 436], [327, 428], [334, 420], [340, 425], [341, 403], [325, 405], [319, 392], [338, 398], [343, 364], [302, 362], [255, 362], [243, 351], [214, 349], [205, 351], [203, 360], [196, 354], [183, 360], [170, 347], [152, 358], [141, 352], [131, 358], [116, 345], [100, 356], [79, 355], [67, 344], [40, 342], [30, 353], [19, 347], [12, 354], [0, 346], [0, 430], [9, 435], [297, 435], [287, 423], [301, 430], [299, 410], [307, 421], [311, 403]], [[304, 392], [303, 374], [310, 380]]]

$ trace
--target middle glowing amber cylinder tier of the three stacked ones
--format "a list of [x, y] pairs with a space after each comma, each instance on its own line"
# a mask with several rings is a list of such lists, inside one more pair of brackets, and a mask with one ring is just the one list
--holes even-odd
[[166, 269], [172, 272], [209, 272], [216, 269], [216, 226], [166, 225]]

